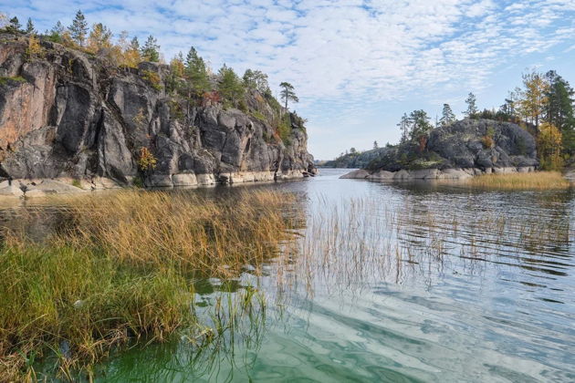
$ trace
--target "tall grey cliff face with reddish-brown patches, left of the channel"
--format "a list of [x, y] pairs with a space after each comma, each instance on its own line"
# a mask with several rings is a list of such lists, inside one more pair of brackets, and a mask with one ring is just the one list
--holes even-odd
[[[281, 140], [256, 90], [244, 111], [190, 104], [166, 92], [164, 65], [116, 67], [47, 41], [42, 57], [30, 58], [25, 37], [0, 41], [1, 178], [189, 186], [315, 171], [303, 120], [290, 114]], [[141, 171], [142, 148], [154, 169]]]

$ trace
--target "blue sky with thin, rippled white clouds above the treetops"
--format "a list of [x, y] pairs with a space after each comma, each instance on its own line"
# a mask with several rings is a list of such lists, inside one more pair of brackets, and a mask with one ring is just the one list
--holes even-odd
[[530, 70], [575, 85], [575, 0], [0, 0], [40, 31], [78, 9], [116, 34], [152, 34], [166, 61], [193, 46], [214, 71], [260, 69], [276, 94], [290, 82], [319, 160], [397, 142], [413, 109], [461, 116], [469, 92], [497, 108]]

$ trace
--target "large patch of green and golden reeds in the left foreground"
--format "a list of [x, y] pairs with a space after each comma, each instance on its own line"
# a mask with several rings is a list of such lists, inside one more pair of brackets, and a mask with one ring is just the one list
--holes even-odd
[[275, 256], [289, 200], [272, 192], [225, 202], [144, 191], [58, 197], [68, 229], [42, 243], [4, 233], [0, 380], [34, 380], [32, 363], [49, 350], [66, 376], [129, 339], [200, 329], [194, 279], [232, 277]]

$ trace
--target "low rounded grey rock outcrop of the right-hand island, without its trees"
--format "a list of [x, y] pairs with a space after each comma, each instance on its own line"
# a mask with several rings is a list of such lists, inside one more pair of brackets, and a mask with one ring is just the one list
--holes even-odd
[[464, 178], [486, 172], [532, 171], [535, 139], [509, 122], [463, 119], [433, 129], [422, 142], [383, 148], [377, 159], [347, 178]]

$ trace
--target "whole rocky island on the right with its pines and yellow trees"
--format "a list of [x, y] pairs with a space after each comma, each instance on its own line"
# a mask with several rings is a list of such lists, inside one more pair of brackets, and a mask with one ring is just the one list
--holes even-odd
[[321, 166], [359, 168], [344, 177], [383, 180], [562, 171], [575, 153], [575, 92], [553, 70], [523, 75], [523, 86], [497, 111], [479, 111], [470, 93], [461, 120], [444, 104], [435, 126], [424, 110], [413, 110], [398, 124], [399, 144], [379, 148], [375, 141], [372, 150], [351, 148]]

